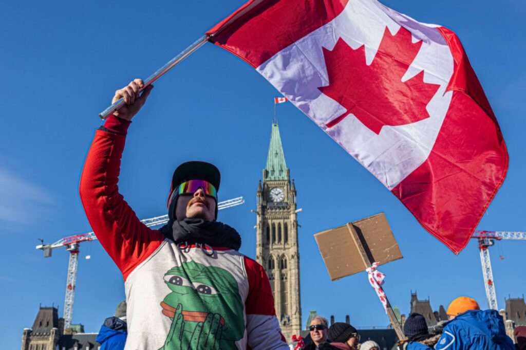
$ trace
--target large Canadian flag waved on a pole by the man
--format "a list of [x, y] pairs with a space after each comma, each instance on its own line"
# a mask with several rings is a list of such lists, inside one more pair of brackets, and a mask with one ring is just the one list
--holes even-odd
[[458, 37], [375, 0], [252, 0], [210, 29], [458, 254], [504, 181]]

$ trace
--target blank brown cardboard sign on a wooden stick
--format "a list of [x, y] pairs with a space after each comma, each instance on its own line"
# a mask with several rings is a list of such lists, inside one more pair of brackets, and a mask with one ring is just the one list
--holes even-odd
[[314, 235], [331, 281], [402, 258], [383, 213]]

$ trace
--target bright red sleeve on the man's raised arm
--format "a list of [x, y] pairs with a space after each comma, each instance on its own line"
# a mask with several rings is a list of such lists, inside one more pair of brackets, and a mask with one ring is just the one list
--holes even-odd
[[125, 139], [97, 130], [80, 177], [80, 200], [93, 232], [126, 280], [163, 243], [164, 235], [141, 223], [118, 191]]

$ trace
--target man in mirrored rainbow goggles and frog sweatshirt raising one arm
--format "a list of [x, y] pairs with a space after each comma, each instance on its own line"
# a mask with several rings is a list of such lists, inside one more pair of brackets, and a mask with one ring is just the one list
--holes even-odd
[[125, 281], [128, 336], [135, 349], [288, 349], [265, 270], [239, 253], [241, 237], [217, 221], [220, 173], [206, 162], [179, 165], [168, 223], [141, 223], [117, 186], [131, 119], [153, 86], [135, 79], [116, 91], [125, 106], [106, 119], [89, 149], [80, 199], [99, 242]]

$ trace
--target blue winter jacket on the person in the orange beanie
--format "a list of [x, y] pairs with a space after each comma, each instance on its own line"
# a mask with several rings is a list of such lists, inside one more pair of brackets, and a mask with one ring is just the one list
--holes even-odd
[[495, 310], [470, 310], [444, 325], [436, 350], [514, 350], [502, 316]]

